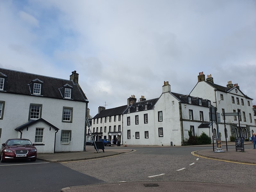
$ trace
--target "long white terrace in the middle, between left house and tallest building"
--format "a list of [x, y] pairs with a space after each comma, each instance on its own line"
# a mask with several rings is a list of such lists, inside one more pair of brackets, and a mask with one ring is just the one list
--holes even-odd
[[[211, 135], [209, 100], [171, 92], [169, 83], [164, 82], [159, 98], [146, 100], [141, 96], [140, 101], [136, 101], [132, 95], [127, 105], [112, 109], [100, 107], [92, 119], [92, 134], [96, 136], [98, 127], [100, 137], [113, 139], [117, 134], [123, 145], [158, 146], [170, 146], [171, 142], [176, 146], [183, 145], [189, 138], [188, 130], [193, 135], [202, 132]], [[120, 117], [120, 122], [113, 120], [115, 116]], [[117, 125], [121, 132], [115, 130]]]

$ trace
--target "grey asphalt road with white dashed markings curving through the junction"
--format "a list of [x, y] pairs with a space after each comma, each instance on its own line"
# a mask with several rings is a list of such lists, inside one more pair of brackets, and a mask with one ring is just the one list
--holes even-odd
[[215, 183], [255, 188], [255, 179], [252, 177], [254, 165], [191, 155], [192, 151], [205, 148], [211, 149], [133, 148], [136, 151], [132, 153], [93, 160], [0, 163], [0, 191], [59, 192], [68, 186], [138, 181], [190, 181], [200, 182], [198, 185]]

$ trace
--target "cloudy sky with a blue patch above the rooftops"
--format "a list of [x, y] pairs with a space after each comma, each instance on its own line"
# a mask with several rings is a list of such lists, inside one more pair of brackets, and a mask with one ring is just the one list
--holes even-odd
[[256, 1], [4, 0], [0, 68], [76, 70], [92, 117], [131, 95], [158, 98], [164, 81], [189, 94], [199, 72], [256, 99]]

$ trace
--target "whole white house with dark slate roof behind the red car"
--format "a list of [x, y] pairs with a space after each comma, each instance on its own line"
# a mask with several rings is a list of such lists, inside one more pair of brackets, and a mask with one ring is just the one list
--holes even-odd
[[85, 150], [88, 100], [70, 80], [0, 68], [0, 142], [26, 138], [38, 153]]

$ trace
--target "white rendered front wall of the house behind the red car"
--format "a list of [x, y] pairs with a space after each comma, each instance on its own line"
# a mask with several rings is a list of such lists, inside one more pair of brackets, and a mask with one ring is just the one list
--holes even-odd
[[[28, 122], [29, 106], [33, 103], [42, 104], [42, 118], [60, 129], [56, 134], [56, 152], [84, 150], [84, 119], [86, 103], [73, 100], [45, 98], [42, 96], [27, 96], [10, 93], [0, 94], [1, 100], [5, 101], [4, 117], [3, 120], [0, 120], [2, 143], [9, 138], [18, 137], [19, 132], [14, 129]], [[73, 108], [72, 123], [62, 122], [63, 107]], [[61, 130], [72, 130], [70, 144], [61, 144]], [[47, 137], [47, 135], [44, 135], [44, 137]], [[31, 141], [33, 142], [34, 140]]]

